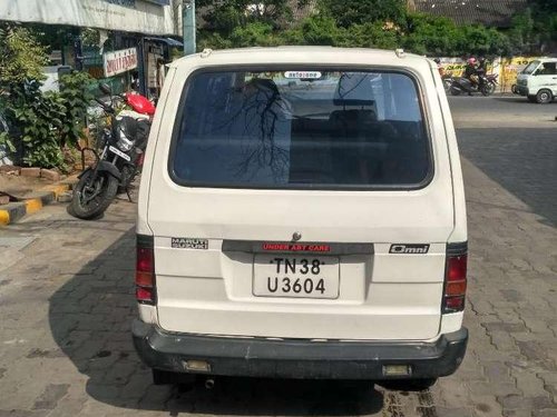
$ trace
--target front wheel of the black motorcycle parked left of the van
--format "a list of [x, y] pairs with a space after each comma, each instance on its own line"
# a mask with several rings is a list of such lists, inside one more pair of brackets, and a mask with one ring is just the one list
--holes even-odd
[[100, 216], [110, 206], [118, 189], [118, 180], [107, 171], [98, 171], [92, 178], [92, 170], [88, 170], [74, 188], [68, 211], [84, 220]]

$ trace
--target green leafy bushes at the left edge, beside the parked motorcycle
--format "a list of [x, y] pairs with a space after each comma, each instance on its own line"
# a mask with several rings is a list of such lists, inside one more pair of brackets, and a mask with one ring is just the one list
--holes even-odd
[[62, 167], [61, 148], [82, 136], [85, 113], [92, 98], [89, 76], [75, 72], [61, 80], [59, 93], [40, 90], [45, 48], [21, 27], [0, 27], [0, 107], [14, 129], [0, 136], [12, 156], [28, 166]]

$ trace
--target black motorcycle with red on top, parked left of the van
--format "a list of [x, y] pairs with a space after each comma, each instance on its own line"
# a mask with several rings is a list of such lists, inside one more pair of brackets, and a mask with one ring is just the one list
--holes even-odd
[[[150, 119], [155, 113], [155, 107], [144, 96], [124, 93], [114, 97], [108, 86], [99, 88], [110, 97], [109, 103], [96, 99], [110, 122], [96, 149], [81, 149], [84, 171], [79, 175], [68, 208], [72, 216], [85, 220], [100, 216], [118, 192], [126, 192], [131, 200], [129, 185], [143, 166]], [[121, 99], [129, 109], [117, 112], [117, 99]], [[95, 156], [96, 161], [85, 169], [87, 151]]]

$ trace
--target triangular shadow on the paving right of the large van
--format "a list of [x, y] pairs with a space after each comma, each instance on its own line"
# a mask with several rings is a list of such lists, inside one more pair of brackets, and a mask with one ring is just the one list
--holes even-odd
[[544, 224], [557, 227], [557, 122], [551, 128], [458, 129], [457, 137], [465, 158], [527, 203]]

